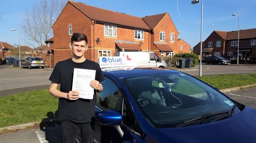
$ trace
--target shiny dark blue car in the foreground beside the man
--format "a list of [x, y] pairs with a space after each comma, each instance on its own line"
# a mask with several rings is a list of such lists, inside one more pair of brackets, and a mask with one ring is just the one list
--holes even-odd
[[95, 142], [256, 142], [256, 110], [193, 76], [157, 68], [103, 74]]

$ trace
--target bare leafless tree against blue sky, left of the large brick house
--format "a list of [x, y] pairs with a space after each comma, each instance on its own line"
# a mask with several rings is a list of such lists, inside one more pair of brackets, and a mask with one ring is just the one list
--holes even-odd
[[33, 10], [26, 12], [20, 24], [23, 40], [32, 46], [44, 45], [53, 36], [52, 25], [65, 7], [67, 0], [39, 0]]

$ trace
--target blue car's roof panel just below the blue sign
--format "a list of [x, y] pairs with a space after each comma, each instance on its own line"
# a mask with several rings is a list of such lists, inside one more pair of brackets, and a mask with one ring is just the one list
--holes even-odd
[[131, 70], [114, 70], [114, 71], [103, 71], [106, 76], [116, 77], [116, 78], [126, 78], [141, 75], [154, 75], [162, 73], [182, 73], [180, 71], [162, 69], [162, 68], [134, 68]]

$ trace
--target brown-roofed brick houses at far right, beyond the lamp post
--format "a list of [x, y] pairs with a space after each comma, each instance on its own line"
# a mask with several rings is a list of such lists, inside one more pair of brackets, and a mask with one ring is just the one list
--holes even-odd
[[[256, 60], [256, 28], [240, 30], [239, 56]], [[194, 53], [200, 55], [200, 42], [194, 48]], [[202, 56], [238, 55], [238, 31], [214, 31], [204, 41]]]

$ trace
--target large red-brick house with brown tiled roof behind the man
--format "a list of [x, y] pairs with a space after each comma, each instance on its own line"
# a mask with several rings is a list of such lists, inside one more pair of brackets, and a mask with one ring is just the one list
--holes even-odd
[[46, 43], [54, 48], [54, 65], [72, 57], [68, 43], [76, 32], [87, 35], [85, 56], [92, 61], [122, 50], [154, 51], [159, 56], [180, 51], [179, 33], [168, 13], [141, 18], [69, 1], [52, 28], [54, 36]]

